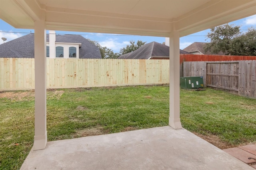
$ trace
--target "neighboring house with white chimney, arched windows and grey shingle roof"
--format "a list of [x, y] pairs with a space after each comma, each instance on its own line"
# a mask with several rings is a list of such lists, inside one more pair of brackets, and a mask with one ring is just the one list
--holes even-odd
[[[81, 35], [46, 35], [46, 57], [101, 59], [100, 49]], [[34, 33], [0, 45], [0, 58], [34, 58]]]

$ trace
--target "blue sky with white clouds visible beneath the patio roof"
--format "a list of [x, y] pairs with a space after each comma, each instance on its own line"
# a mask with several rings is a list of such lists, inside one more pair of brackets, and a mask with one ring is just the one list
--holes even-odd
[[[240, 30], [246, 32], [248, 28], [253, 27], [256, 29], [256, 15], [250, 16], [247, 18], [243, 18], [241, 20], [233, 21], [228, 24], [240, 25]], [[146, 43], [151, 43], [152, 41], [156, 41], [158, 43], [165, 42], [165, 37], [149, 37], [149, 36], [138, 36], [138, 35], [120, 35], [120, 34], [106, 34], [106, 33], [85, 33], [85, 32], [71, 32], [71, 31], [56, 31], [56, 34], [76, 34], [82, 35], [86, 39], [90, 39], [93, 41], [98, 41], [98, 43], [102, 47], [107, 47], [112, 49], [114, 53], [118, 53], [121, 48], [129, 45], [129, 41], [138, 40], [146, 41]], [[5, 37], [7, 40], [5, 42], [11, 41], [18, 37], [24, 36], [28, 33], [34, 33], [34, 29], [16, 29], [6, 23], [3, 20], [0, 20], [0, 37]], [[180, 37], [180, 49], [184, 49], [188, 45], [194, 42], [210, 42], [209, 39], [206, 39], [207, 33], [210, 32], [210, 29], [206, 29], [204, 31], [200, 31], [198, 33], [194, 33], [191, 35], [187, 35], [184, 37]], [[48, 31], [47, 31], [48, 33]], [[0, 39], [0, 44], [4, 43], [2, 39]]]

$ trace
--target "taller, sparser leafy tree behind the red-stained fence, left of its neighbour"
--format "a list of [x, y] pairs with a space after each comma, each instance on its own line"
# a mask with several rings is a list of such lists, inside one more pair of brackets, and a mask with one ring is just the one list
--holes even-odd
[[210, 29], [210, 33], [207, 34], [207, 38], [210, 39], [210, 43], [206, 43], [204, 46], [205, 51], [217, 54], [223, 52], [225, 55], [230, 55], [230, 44], [234, 37], [240, 34], [240, 26], [234, 25], [220, 25]]

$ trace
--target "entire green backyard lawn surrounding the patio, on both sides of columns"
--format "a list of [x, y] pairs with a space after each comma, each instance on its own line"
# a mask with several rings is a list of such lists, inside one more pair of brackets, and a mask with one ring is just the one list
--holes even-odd
[[[185, 129], [227, 148], [256, 142], [256, 100], [180, 90]], [[48, 90], [48, 141], [168, 125], [168, 86]], [[0, 169], [19, 169], [34, 137], [34, 92], [0, 93]]]

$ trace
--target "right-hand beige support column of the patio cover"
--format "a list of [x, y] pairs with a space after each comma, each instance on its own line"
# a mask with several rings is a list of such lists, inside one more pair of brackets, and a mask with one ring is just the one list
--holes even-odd
[[170, 33], [170, 117], [169, 125], [181, 129], [180, 123], [180, 35]]

